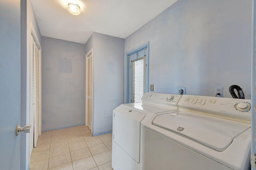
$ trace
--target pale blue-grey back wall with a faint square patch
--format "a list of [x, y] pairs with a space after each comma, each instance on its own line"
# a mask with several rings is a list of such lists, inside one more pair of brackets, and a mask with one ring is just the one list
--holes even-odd
[[42, 36], [42, 131], [85, 125], [84, 44]]

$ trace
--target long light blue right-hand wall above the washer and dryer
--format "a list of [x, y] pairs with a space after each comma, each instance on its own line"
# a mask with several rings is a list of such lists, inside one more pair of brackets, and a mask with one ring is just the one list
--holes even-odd
[[179, 0], [125, 39], [149, 47], [149, 83], [158, 93], [214, 96], [230, 85], [250, 99], [252, 0]]

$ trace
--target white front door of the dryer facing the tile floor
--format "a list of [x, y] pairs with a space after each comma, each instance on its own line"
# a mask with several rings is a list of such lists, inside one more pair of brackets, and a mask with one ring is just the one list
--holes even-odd
[[126, 153], [140, 162], [140, 122], [145, 115], [134, 110], [120, 107], [114, 112], [113, 137]]

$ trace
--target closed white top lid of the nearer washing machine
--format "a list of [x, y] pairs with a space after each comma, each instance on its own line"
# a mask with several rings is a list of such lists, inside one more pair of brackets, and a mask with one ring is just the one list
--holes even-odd
[[187, 111], [158, 115], [153, 120], [153, 124], [218, 151], [224, 151], [236, 136], [250, 128], [250, 124], [247, 123]]

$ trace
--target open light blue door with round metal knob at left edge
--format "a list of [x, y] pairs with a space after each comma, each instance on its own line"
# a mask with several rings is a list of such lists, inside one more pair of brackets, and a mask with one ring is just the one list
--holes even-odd
[[20, 170], [20, 1], [0, 0], [0, 169]]

